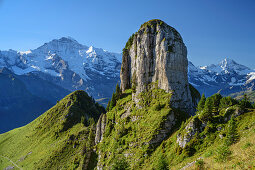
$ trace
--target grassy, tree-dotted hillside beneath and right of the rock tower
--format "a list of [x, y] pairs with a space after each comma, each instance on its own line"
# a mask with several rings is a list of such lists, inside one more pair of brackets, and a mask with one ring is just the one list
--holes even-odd
[[[255, 112], [248, 101], [215, 94], [204, 98], [196, 115], [186, 120], [187, 114], [171, 108], [170, 98], [153, 89], [141, 93], [135, 104], [132, 90], [125, 91], [106, 114], [104, 138], [97, 145], [99, 167], [255, 168]], [[167, 121], [171, 114], [177, 118], [174, 126]], [[187, 143], [181, 147], [178, 139], [184, 137]]]

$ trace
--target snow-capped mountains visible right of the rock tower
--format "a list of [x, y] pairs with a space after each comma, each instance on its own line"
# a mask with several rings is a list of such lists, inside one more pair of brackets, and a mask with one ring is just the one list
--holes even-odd
[[189, 81], [200, 93], [210, 96], [220, 92], [223, 95], [239, 91], [254, 90], [255, 70], [236, 63], [229, 58], [219, 64], [196, 67], [189, 62]]

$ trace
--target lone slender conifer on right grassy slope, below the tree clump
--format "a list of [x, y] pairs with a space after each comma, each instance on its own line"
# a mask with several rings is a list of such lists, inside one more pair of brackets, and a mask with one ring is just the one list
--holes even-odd
[[227, 146], [230, 146], [233, 143], [236, 143], [237, 140], [238, 140], [238, 133], [237, 133], [236, 122], [234, 120], [234, 117], [232, 116], [228, 122], [228, 129], [227, 129], [225, 144]]

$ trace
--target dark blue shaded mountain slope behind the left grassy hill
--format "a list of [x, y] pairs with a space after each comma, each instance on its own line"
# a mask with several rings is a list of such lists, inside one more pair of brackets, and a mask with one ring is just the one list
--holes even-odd
[[0, 69], [0, 133], [23, 126], [69, 93], [35, 75]]

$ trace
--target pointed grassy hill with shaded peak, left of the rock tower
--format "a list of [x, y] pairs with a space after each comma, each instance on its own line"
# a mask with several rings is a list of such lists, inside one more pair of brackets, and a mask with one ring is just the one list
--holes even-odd
[[12, 162], [23, 169], [95, 166], [93, 119], [101, 113], [87, 93], [71, 93], [30, 124], [0, 135], [0, 169]]

